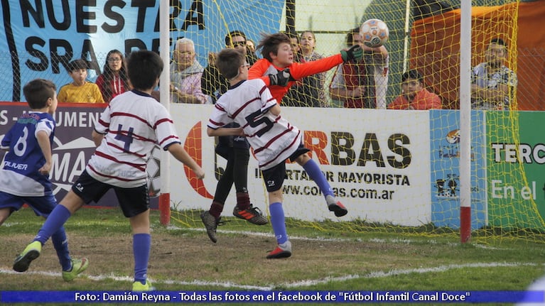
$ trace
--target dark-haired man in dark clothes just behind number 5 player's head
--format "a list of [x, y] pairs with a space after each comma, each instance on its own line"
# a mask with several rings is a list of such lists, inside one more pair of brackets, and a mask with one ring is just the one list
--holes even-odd
[[[246, 34], [242, 31], [234, 30], [225, 35], [225, 48], [240, 50], [244, 53], [246, 62], [252, 66], [258, 59], [255, 52], [247, 48], [247, 43]], [[208, 65], [200, 80], [201, 89], [209, 97], [212, 97], [212, 103], [215, 103], [217, 98], [227, 92], [227, 87], [229, 87], [229, 81], [220, 73], [220, 70], [217, 70], [215, 60], [215, 53], [208, 53]]]

